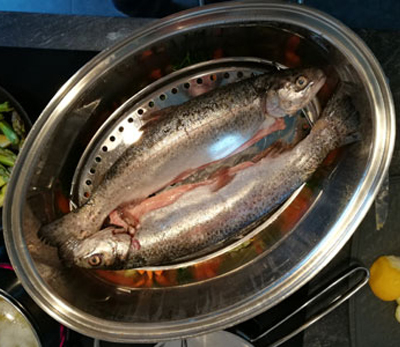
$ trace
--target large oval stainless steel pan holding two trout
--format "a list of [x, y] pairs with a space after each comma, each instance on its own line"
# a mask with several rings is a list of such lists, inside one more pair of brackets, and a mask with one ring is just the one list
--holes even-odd
[[[246, 242], [174, 269], [98, 273], [64, 267], [57, 250], [38, 239], [39, 227], [68, 208], [71, 192], [76, 204], [90, 193], [90, 165], [100, 154], [103, 164], [108, 162], [112, 132], [123, 126], [122, 136], [135, 123], [118, 110], [130, 105], [147, 112], [181, 102], [189, 90], [204, 88], [194, 78], [213, 71], [237, 78], [238, 72], [256, 73], [271, 62], [322, 66], [330, 76], [327, 87], [337, 80], [355, 83], [362, 139], [330, 157]], [[173, 88], [180, 91], [176, 96], [170, 94]], [[394, 120], [391, 93], [373, 54], [351, 30], [321, 12], [243, 2], [168, 17], [82, 67], [33, 126], [3, 214], [11, 261], [41, 308], [86, 335], [149, 342], [235, 325], [296, 291], [349, 240], [388, 170]], [[95, 177], [90, 180], [96, 184]]]

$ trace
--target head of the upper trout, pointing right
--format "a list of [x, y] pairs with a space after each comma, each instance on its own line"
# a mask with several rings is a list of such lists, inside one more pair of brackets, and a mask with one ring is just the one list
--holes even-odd
[[264, 99], [264, 111], [279, 118], [293, 115], [315, 97], [326, 77], [318, 68], [283, 70], [273, 76]]

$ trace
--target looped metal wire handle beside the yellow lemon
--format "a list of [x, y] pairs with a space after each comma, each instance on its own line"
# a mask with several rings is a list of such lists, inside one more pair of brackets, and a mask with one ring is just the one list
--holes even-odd
[[[359, 276], [359, 277], [358, 277]], [[343, 293], [337, 293], [337, 287], [340, 285], [343, 285], [343, 282], [350, 277], [357, 278], [357, 281], [346, 291]], [[278, 327], [286, 323], [288, 320], [290, 320], [292, 317], [294, 317], [296, 314], [298, 314], [300, 311], [304, 310], [305, 308], [311, 308], [313, 307], [312, 305], [316, 304], [317, 300], [327, 300], [327, 303], [324, 303], [324, 307], [320, 309], [317, 313], [315, 313], [313, 316], [311, 316], [304, 324], [302, 324], [300, 327], [294, 329], [292, 332], [288, 333], [282, 338], [279, 338], [278, 340], [270, 343], [268, 347], [277, 347], [280, 346], [282, 343], [290, 340], [292, 337], [295, 335], [301, 333], [302, 331], [306, 330], [308, 327], [310, 327], [312, 324], [320, 320], [321, 318], [325, 317], [327, 314], [332, 312], [335, 308], [340, 306], [342, 303], [344, 303], [346, 300], [348, 300], [351, 296], [353, 296], [355, 293], [357, 293], [369, 280], [369, 271], [367, 268], [363, 266], [357, 266], [355, 268], [351, 268], [347, 270], [341, 277], [337, 278], [335, 281], [333, 281], [331, 284], [326, 286], [323, 290], [321, 290], [319, 293], [315, 294], [312, 298], [310, 298], [308, 301], [306, 301], [303, 305], [301, 305], [298, 309], [296, 309], [294, 312], [286, 316], [284, 319], [282, 319], [280, 322], [263, 332], [262, 334], [258, 335], [257, 337], [250, 338], [247, 335], [245, 335], [241, 331], [237, 331], [236, 333], [240, 335], [242, 338], [246, 339], [250, 343], [257, 342], [261, 340], [262, 338], [266, 337], [270, 333], [272, 333], [274, 330], [276, 330]], [[335, 291], [336, 289], [336, 291]], [[332, 294], [332, 292], [335, 294], [334, 299], [329, 301], [329, 293]]]

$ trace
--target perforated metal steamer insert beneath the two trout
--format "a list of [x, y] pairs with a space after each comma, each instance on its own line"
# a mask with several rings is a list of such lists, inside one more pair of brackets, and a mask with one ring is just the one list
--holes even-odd
[[[89, 199], [108, 169], [139, 140], [140, 128], [145, 123], [143, 117], [149, 112], [179, 105], [214, 88], [283, 68], [283, 65], [256, 58], [218, 59], [183, 68], [142, 89], [108, 118], [84, 151], [71, 186], [72, 208]], [[319, 110], [315, 98], [301, 112], [313, 123]]]

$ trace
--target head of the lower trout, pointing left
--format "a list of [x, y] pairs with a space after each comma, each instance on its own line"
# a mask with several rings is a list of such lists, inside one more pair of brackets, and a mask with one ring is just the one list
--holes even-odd
[[59, 248], [66, 265], [86, 269], [118, 269], [131, 249], [132, 237], [123, 229], [108, 227], [87, 239], [66, 243]]

